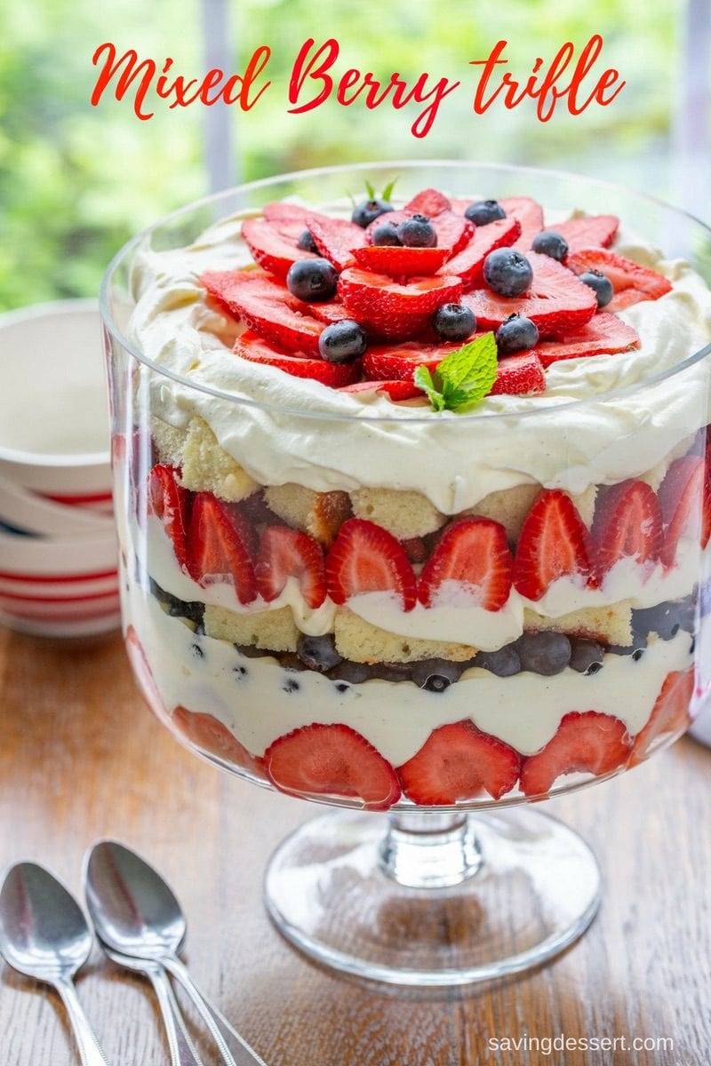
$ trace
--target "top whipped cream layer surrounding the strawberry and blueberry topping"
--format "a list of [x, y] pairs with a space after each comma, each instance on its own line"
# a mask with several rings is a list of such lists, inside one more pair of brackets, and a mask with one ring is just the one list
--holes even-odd
[[[136, 306], [129, 337], [149, 359], [196, 386], [142, 366], [135, 382], [141, 402], [175, 426], [201, 416], [262, 485], [411, 489], [450, 515], [515, 485], [538, 482], [580, 492], [636, 477], [711, 421], [707, 359], [634, 388], [711, 341], [711, 292], [686, 262], [665, 260], [624, 228], [614, 249], [674, 285], [660, 300], [620, 313], [641, 348], [561, 360], [547, 371], [545, 393], [490, 397], [473, 414], [457, 415], [395, 406], [384, 397], [363, 400], [236, 356], [231, 346], [241, 327], [206, 306], [198, 277], [252, 262], [240, 237], [243, 217], [222, 220], [184, 248], [155, 252], [146, 238], [132, 268]], [[602, 399], [620, 389], [627, 391]]]

